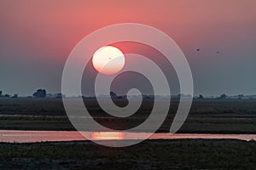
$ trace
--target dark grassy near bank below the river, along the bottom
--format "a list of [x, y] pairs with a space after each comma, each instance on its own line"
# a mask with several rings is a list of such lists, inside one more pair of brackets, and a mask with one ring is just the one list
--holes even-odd
[[0, 169], [255, 169], [256, 142], [147, 140], [125, 148], [92, 142], [0, 144]]

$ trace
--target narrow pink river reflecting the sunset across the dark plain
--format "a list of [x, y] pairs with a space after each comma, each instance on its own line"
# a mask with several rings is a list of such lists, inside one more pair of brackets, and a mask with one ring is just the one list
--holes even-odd
[[[147, 133], [86, 132], [94, 140], [143, 139]], [[149, 139], [241, 139], [256, 140], [256, 134], [154, 133]], [[0, 142], [32, 143], [85, 139], [77, 131], [0, 130]]]

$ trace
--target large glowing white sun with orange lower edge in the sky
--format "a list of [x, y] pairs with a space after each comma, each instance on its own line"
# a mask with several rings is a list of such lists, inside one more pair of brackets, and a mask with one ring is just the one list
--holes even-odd
[[123, 69], [125, 56], [119, 48], [104, 46], [93, 54], [92, 65], [104, 75], [113, 75]]

